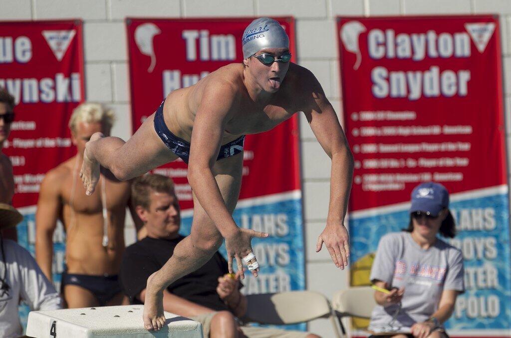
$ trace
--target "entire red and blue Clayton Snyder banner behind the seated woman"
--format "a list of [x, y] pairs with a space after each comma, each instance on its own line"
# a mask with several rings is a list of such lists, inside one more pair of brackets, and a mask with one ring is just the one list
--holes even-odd
[[408, 226], [414, 186], [442, 183], [457, 223], [449, 242], [463, 252], [467, 289], [446, 327], [454, 336], [510, 336], [498, 18], [337, 22], [344, 121], [355, 156], [353, 264], [375, 252], [382, 235]]

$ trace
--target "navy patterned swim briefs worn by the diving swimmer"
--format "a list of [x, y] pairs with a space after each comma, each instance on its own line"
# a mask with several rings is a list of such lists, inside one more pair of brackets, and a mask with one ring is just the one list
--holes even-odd
[[[161, 102], [158, 110], [156, 110], [156, 114], [154, 115], [154, 130], [158, 134], [159, 138], [167, 148], [172, 150], [177, 156], [181, 157], [181, 159], [188, 164], [188, 160], [190, 159], [190, 143], [178, 138], [172, 132], [170, 132], [169, 128], [165, 124], [165, 120], [163, 118], [163, 105], [165, 100]], [[224, 144], [220, 147], [220, 152], [218, 153], [217, 161], [225, 159], [226, 157], [236, 155], [243, 151], [243, 142], [245, 141], [245, 135], [239, 137], [238, 139]]]

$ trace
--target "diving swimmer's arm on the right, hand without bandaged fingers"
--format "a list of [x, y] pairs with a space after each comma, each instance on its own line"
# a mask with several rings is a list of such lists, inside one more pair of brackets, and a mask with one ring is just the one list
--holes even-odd
[[327, 226], [318, 238], [316, 252], [321, 250], [324, 242], [333, 262], [343, 269], [350, 255], [344, 217], [352, 186], [353, 155], [335, 110], [321, 85], [312, 73], [305, 69], [304, 73], [303, 83], [308, 85], [304, 93], [306, 102], [300, 110], [304, 111], [316, 139], [332, 159]]

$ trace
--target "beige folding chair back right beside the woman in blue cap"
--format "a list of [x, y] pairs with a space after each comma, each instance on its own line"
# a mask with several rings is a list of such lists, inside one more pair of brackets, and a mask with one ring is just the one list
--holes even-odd
[[332, 299], [332, 308], [339, 320], [339, 326], [345, 336], [346, 331], [342, 325], [342, 317], [371, 318], [371, 312], [376, 306], [375, 290], [370, 286], [350, 287], [339, 290]]

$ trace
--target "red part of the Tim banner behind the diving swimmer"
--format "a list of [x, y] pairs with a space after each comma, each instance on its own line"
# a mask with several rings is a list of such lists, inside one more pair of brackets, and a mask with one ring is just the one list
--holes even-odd
[[[221, 66], [242, 62], [241, 37], [252, 20], [128, 18], [133, 130], [174, 89], [190, 86]], [[295, 60], [294, 20], [276, 20], [289, 35]], [[271, 131], [247, 136], [244, 149], [240, 199], [300, 189], [296, 117]], [[173, 177], [182, 209], [193, 206], [186, 168], [178, 160], [156, 170]]]

